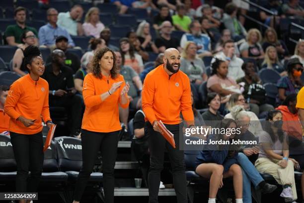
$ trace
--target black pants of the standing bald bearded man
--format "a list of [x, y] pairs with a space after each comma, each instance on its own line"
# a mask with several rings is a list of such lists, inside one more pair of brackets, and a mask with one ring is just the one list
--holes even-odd
[[179, 150], [179, 132], [182, 127], [179, 124], [168, 125], [166, 128], [174, 134], [176, 148], [174, 149], [159, 133], [153, 130], [150, 122], [145, 124], [145, 133], [149, 134], [150, 170], [148, 175], [149, 203], [157, 203], [160, 184], [160, 172], [163, 169], [165, 149], [168, 152], [173, 172], [173, 185], [177, 203], [187, 203], [187, 182], [185, 174], [184, 151]]

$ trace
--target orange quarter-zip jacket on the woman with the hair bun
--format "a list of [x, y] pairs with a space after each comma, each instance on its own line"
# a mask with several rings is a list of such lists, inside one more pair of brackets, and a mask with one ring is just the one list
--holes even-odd
[[[49, 110], [49, 84], [43, 78], [32, 80], [29, 74], [16, 80], [9, 88], [4, 111], [10, 117], [9, 131], [19, 134], [36, 134], [42, 131], [42, 120], [51, 120]], [[16, 120], [19, 116], [36, 119], [25, 127]]]

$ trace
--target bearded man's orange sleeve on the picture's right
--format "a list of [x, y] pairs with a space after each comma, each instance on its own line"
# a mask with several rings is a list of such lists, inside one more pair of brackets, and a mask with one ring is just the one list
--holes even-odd
[[183, 90], [183, 94], [180, 100], [181, 105], [181, 112], [183, 114], [184, 120], [187, 122], [188, 125], [194, 125], [194, 114], [191, 105], [191, 87], [190, 81], [187, 77], [184, 81], [185, 86]]

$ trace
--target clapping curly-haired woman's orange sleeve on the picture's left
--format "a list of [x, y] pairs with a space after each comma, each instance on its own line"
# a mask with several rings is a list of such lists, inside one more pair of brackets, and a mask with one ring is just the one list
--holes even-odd
[[100, 95], [95, 95], [94, 79], [90, 75], [84, 77], [82, 96], [86, 107], [92, 107], [102, 103]]

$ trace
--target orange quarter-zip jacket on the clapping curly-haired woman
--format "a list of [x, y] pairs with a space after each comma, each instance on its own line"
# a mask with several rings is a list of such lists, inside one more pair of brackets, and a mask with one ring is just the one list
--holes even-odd
[[[102, 101], [100, 95], [108, 92], [113, 83], [120, 81], [123, 81], [120, 88]], [[125, 81], [122, 75], [118, 75], [116, 79], [112, 79], [110, 76], [102, 76], [102, 79], [99, 79], [92, 73], [87, 74], [83, 80], [82, 96], [85, 110], [81, 128], [93, 132], [121, 130], [118, 104], [123, 108], [129, 106], [129, 101], [122, 104], [120, 100], [120, 93], [124, 86]]]

